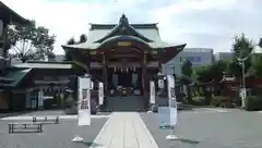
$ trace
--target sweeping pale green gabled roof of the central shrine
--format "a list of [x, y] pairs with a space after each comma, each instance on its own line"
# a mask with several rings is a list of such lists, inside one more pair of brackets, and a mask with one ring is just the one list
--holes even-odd
[[[126, 27], [126, 33], [124, 29], [121, 29], [122, 27]], [[152, 49], [165, 49], [186, 46], [167, 44], [163, 41], [159, 36], [157, 23], [129, 24], [127, 17], [123, 15], [120, 18], [119, 24], [91, 24], [88, 39], [86, 42], [78, 45], [63, 45], [62, 48], [66, 50], [96, 50], [105, 40], [112, 40], [114, 38], [116, 38], [116, 36], [126, 36], [124, 38], [130, 38], [134, 40], [138, 40], [139, 38], [146, 42], [147, 46]]]

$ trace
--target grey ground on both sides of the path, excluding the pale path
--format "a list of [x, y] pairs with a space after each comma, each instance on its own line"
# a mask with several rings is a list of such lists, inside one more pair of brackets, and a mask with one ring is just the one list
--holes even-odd
[[[59, 111], [38, 111], [24, 115], [58, 115]], [[108, 115], [108, 114], [106, 114]], [[238, 109], [196, 109], [179, 112], [176, 135], [179, 140], [169, 141], [165, 137], [168, 130], [159, 130], [156, 113], [141, 113], [159, 148], [261, 148], [262, 113]], [[91, 126], [78, 127], [76, 120], [44, 126], [40, 134], [8, 134], [9, 121], [0, 121], [1, 148], [87, 148], [95, 139], [107, 118], [92, 119]], [[71, 139], [81, 135], [84, 143]]]

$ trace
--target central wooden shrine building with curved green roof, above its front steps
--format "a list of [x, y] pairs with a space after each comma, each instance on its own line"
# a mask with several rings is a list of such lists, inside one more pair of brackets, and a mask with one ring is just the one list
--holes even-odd
[[72, 61], [86, 65], [106, 94], [124, 88], [128, 95], [147, 96], [150, 79], [162, 64], [178, 54], [184, 45], [169, 45], [159, 37], [157, 24], [130, 24], [123, 14], [118, 24], [91, 24], [87, 41], [63, 45]]

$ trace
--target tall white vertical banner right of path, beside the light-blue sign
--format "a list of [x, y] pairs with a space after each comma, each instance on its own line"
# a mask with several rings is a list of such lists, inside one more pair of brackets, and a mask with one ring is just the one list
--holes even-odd
[[175, 91], [175, 79], [171, 75], [167, 75], [167, 87], [170, 110], [170, 125], [175, 126], [177, 124], [177, 100]]

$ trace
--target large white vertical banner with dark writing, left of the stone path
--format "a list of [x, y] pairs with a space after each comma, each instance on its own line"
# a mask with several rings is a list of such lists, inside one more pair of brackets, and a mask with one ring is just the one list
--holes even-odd
[[91, 125], [91, 79], [79, 77], [79, 126]]

